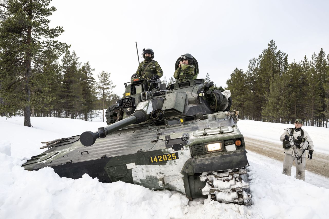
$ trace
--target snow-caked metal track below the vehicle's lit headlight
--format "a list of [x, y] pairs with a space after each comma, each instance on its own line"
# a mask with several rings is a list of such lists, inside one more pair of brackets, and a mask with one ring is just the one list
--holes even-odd
[[248, 175], [245, 169], [204, 172], [200, 175], [200, 181], [206, 181], [202, 194], [210, 196], [215, 201], [251, 205]]

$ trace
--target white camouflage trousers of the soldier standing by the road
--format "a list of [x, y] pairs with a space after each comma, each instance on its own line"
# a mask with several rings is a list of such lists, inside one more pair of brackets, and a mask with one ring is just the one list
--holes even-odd
[[296, 164], [296, 179], [305, 181], [305, 169], [306, 169], [306, 158], [300, 158], [300, 164], [297, 164], [297, 158], [293, 157], [290, 154], [285, 154], [283, 159], [283, 171], [282, 173], [291, 176], [291, 166], [295, 160]]

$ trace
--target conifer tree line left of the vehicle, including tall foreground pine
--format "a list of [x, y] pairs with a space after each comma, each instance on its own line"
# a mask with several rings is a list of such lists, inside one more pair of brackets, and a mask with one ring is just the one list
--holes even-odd
[[[96, 83], [89, 61], [81, 65], [70, 45], [55, 40], [62, 27], [50, 28], [56, 11], [50, 0], [0, 0], [0, 116], [83, 118], [118, 99], [111, 73]], [[63, 56], [61, 61], [60, 57]]]

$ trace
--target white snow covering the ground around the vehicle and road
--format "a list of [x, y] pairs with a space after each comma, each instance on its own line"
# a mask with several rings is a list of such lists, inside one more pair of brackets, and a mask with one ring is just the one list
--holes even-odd
[[[0, 218], [328, 218], [329, 179], [306, 172], [306, 181], [281, 174], [282, 163], [248, 152], [252, 206], [222, 204], [208, 199], [189, 202], [173, 191], [152, 191], [124, 182], [101, 183], [84, 175], [60, 178], [52, 168], [25, 171], [20, 165], [39, 149], [41, 141], [95, 131], [105, 126], [74, 119], [0, 117]], [[283, 129], [293, 125], [240, 120], [245, 136], [280, 144]], [[315, 143], [315, 153], [329, 153], [324, 137], [329, 129], [303, 127]], [[257, 131], [257, 132], [255, 132]], [[314, 156], [316, 159], [316, 156]], [[292, 170], [294, 172], [294, 170]]]

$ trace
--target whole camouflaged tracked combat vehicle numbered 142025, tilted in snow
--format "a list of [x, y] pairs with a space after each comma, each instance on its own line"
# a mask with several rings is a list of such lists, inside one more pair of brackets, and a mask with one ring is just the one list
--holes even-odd
[[166, 86], [137, 78], [107, 110], [108, 126], [49, 142], [22, 166], [251, 205], [247, 152], [237, 113], [228, 111], [231, 100], [204, 79]]

